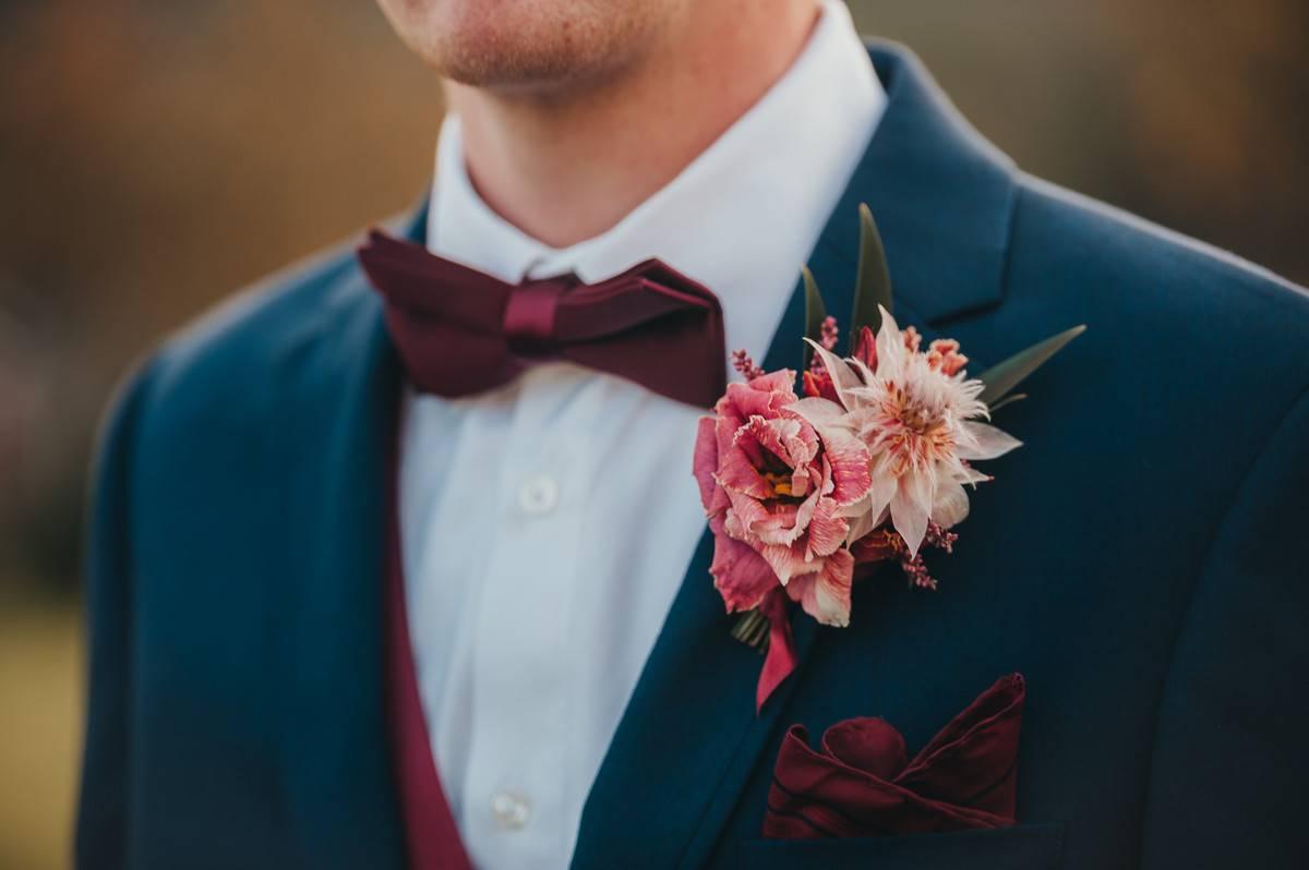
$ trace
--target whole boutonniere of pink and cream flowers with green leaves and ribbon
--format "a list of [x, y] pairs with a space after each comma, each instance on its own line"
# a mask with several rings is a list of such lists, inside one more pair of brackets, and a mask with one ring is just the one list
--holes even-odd
[[[987, 423], [1022, 395], [1013, 389], [1085, 327], [1041, 341], [970, 378], [958, 341], [927, 347], [891, 315], [876, 225], [860, 207], [861, 238], [848, 356], [835, 318], [804, 272], [801, 377], [764, 372], [737, 351], [744, 382], [728, 385], [700, 420], [695, 478], [713, 532], [709, 573], [733, 636], [763, 652], [759, 708], [796, 666], [789, 612], [850, 624], [855, 568], [894, 563], [935, 590], [924, 552], [949, 553], [969, 513], [974, 467], [1020, 442]], [[796, 392], [797, 382], [800, 394]]]

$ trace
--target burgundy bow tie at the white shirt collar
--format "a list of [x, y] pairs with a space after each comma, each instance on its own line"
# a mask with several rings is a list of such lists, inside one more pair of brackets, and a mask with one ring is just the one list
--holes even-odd
[[567, 360], [708, 408], [726, 389], [723, 307], [658, 260], [583, 284], [572, 275], [507, 284], [373, 230], [359, 260], [414, 385], [483, 392], [537, 362]]

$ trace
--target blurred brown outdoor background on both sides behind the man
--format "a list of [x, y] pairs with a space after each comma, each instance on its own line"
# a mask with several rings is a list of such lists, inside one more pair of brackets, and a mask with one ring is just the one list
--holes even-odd
[[[1309, 283], [1304, 0], [852, 0], [1021, 166]], [[98, 413], [234, 288], [415, 203], [370, 0], [0, 0], [0, 867], [65, 866]]]

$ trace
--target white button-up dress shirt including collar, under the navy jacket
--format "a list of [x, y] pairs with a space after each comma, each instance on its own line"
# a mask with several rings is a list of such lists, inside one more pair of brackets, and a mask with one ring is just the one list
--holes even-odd
[[[567, 250], [478, 198], [450, 116], [428, 246], [507, 281], [597, 281], [657, 256], [717, 293], [728, 349], [761, 360], [885, 102], [844, 5], [825, 0], [755, 106], [617, 226]], [[419, 692], [479, 867], [568, 865], [706, 527], [691, 476], [704, 412], [565, 362], [474, 398], [406, 396], [401, 529]]]

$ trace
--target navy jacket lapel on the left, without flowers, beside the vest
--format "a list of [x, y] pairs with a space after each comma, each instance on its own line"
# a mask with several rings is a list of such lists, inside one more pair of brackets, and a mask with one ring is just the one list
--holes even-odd
[[[410, 233], [425, 224], [420, 212]], [[285, 781], [306, 865], [404, 866], [384, 708], [382, 542], [401, 368], [381, 306], [350, 262], [326, 279], [326, 328], [291, 369], [284, 455], [298, 504], [284, 678]], [[284, 436], [285, 437], [285, 436]]]

